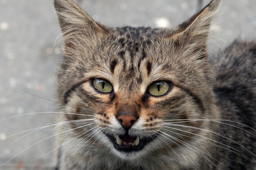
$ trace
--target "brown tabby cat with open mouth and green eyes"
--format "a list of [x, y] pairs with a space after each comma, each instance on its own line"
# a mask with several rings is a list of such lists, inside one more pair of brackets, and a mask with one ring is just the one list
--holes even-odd
[[54, 0], [65, 41], [56, 89], [67, 106], [56, 170], [256, 167], [256, 42], [209, 59], [219, 4], [175, 28], [110, 28]]

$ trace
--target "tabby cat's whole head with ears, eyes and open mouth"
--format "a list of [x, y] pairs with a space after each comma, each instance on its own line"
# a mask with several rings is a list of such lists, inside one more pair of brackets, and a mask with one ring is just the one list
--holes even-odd
[[206, 42], [219, 2], [175, 28], [110, 28], [54, 0], [65, 41], [57, 92], [73, 137], [124, 160], [195, 155], [182, 142], [209, 137], [200, 120], [218, 118]]

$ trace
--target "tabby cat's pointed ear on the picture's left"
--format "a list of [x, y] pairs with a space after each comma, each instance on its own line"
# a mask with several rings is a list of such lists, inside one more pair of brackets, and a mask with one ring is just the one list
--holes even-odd
[[54, 7], [65, 40], [74, 35], [92, 37], [108, 32], [107, 27], [92, 20], [72, 0], [54, 0]]

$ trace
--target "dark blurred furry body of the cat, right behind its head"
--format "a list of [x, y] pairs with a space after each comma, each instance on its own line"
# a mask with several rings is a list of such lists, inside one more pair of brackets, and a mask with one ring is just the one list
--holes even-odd
[[[245, 146], [252, 153], [256, 153], [256, 42], [234, 41], [231, 46], [213, 59], [213, 69], [216, 72], [214, 92], [217, 95], [217, 105], [220, 108], [222, 120], [233, 126], [220, 124], [218, 133]], [[225, 121], [222, 121], [225, 122]], [[247, 126], [237, 124], [240, 122]], [[226, 122], [228, 123], [228, 122]], [[236, 128], [249, 131], [245, 131]], [[249, 127], [250, 128], [249, 128]], [[217, 157], [229, 169], [253, 170], [256, 167], [256, 158], [238, 144], [220, 137], [218, 141], [237, 148], [239, 154], [218, 150]], [[220, 168], [222, 169], [222, 168]]]

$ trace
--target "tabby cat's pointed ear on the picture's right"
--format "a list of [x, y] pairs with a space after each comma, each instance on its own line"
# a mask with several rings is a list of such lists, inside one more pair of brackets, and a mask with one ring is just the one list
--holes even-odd
[[211, 0], [204, 9], [177, 26], [174, 33], [168, 38], [177, 41], [178, 44], [202, 46], [207, 41], [211, 20], [218, 10], [219, 4], [220, 0]]

